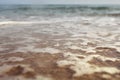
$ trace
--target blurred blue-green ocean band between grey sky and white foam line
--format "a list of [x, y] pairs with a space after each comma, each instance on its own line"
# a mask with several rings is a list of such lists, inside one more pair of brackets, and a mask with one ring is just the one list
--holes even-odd
[[0, 5], [0, 21], [120, 17], [119, 5]]

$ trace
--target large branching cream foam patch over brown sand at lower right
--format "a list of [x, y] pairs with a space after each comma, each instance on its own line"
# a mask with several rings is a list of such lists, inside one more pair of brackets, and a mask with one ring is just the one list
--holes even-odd
[[[104, 57], [100, 55], [80, 55], [80, 54], [73, 54], [73, 53], [64, 53], [65, 60], [58, 61], [57, 64], [59, 67], [65, 67], [70, 66], [69, 68], [73, 71], [75, 71], [75, 74], [73, 76], [82, 76], [84, 74], [92, 74], [95, 72], [107, 72], [109, 74], [115, 74], [119, 73], [120, 70], [114, 67], [99, 67], [97, 65], [92, 65], [88, 63], [88, 61], [91, 61], [93, 58], [98, 58], [102, 61], [110, 60], [110, 61], [116, 61], [119, 59], [116, 58], [109, 58]], [[79, 58], [80, 56], [84, 58]], [[119, 60], [120, 61], [120, 60]]]

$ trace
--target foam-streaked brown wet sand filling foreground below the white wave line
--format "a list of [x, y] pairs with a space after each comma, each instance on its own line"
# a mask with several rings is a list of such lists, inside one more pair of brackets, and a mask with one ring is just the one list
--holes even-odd
[[120, 80], [120, 28], [87, 23], [0, 25], [0, 80]]

